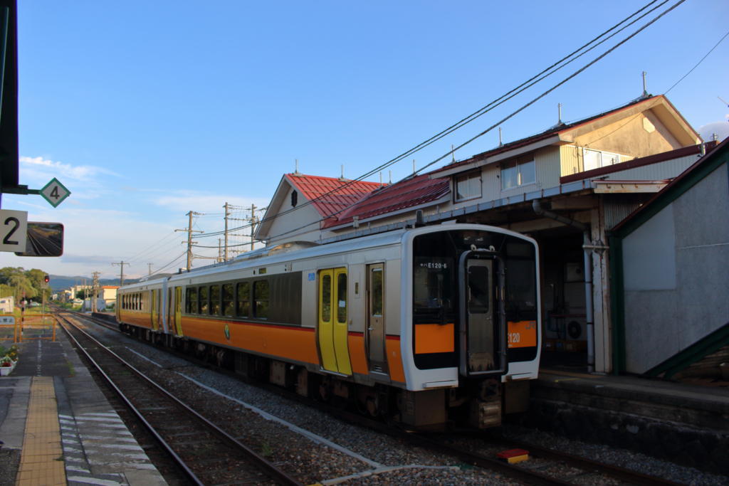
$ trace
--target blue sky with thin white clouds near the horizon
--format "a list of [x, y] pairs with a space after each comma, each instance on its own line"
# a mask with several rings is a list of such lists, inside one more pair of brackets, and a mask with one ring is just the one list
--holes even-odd
[[[295, 160], [302, 173], [357, 178], [647, 3], [19, 1], [20, 184], [40, 189], [56, 177], [71, 196], [52, 208], [37, 195], [2, 195], [1, 208], [62, 222], [66, 234], [63, 256], [0, 253], [0, 267], [114, 278], [120, 267], [112, 262], [124, 261], [125, 278], [175, 271], [185, 266], [187, 233], [175, 230], [187, 228], [188, 211], [201, 213], [196, 231], [222, 230], [225, 203], [247, 208], [231, 214], [231, 224], [245, 224], [251, 205], [268, 205]], [[416, 167], [545, 93], [653, 17], [418, 152]], [[729, 39], [720, 42], [727, 20], [728, 1], [679, 4], [503, 122], [504, 143], [555, 125], [558, 103], [571, 122], [634, 100], [642, 71], [647, 91], [666, 94], [703, 136], [705, 126], [729, 136], [722, 132], [729, 127], [722, 101], [729, 100]], [[498, 137], [486, 133], [456, 159], [494, 148]], [[412, 170], [410, 158], [382, 179]], [[218, 238], [195, 233], [200, 246], [211, 247], [195, 255], [217, 256]], [[210, 262], [195, 259], [193, 267]]]

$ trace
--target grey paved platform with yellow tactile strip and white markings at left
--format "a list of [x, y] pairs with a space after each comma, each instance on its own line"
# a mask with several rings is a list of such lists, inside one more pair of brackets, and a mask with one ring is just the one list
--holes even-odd
[[165, 485], [66, 335], [35, 336], [0, 377], [0, 484]]

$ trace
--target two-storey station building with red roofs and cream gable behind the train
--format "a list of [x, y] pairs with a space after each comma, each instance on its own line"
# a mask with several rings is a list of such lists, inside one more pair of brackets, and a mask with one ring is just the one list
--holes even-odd
[[256, 238], [268, 246], [329, 243], [416, 219], [525, 233], [542, 252], [544, 361], [642, 373], [665, 356], [654, 353], [641, 368], [628, 366], [627, 329], [660, 325], [628, 315], [615, 326], [609, 235], [716, 145], [703, 144], [665, 96], [647, 96], [396, 184], [286, 174]]

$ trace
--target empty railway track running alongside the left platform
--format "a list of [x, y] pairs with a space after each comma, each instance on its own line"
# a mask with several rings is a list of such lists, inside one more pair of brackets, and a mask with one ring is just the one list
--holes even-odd
[[117, 392], [193, 484], [300, 485], [61, 313], [61, 326], [99, 375]]

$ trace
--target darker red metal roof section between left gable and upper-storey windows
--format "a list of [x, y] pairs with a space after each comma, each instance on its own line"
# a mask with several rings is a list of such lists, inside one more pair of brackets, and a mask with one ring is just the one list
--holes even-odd
[[379, 214], [412, 208], [448, 194], [450, 190], [448, 179], [430, 179], [429, 176], [430, 174], [426, 173], [373, 191], [340, 213], [336, 219], [327, 219], [324, 227], [349, 223], [354, 216], [367, 219]]

